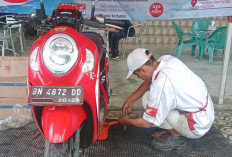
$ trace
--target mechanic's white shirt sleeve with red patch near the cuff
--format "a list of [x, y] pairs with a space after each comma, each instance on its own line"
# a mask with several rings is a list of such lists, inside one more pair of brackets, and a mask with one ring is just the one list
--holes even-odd
[[160, 71], [150, 86], [149, 102], [143, 118], [156, 126], [160, 126], [175, 107], [172, 82], [164, 72]]

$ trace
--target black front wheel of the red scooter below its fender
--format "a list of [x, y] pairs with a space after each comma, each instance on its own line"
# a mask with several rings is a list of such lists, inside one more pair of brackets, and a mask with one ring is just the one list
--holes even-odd
[[44, 157], [79, 157], [80, 128], [63, 143], [50, 143], [45, 139]]

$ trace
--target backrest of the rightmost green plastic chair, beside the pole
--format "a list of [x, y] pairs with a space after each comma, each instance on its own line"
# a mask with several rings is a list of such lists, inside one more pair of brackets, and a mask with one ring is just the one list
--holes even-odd
[[226, 41], [226, 31], [227, 27], [220, 27], [216, 29], [208, 38], [209, 42], [215, 44], [216, 49], [224, 49]]

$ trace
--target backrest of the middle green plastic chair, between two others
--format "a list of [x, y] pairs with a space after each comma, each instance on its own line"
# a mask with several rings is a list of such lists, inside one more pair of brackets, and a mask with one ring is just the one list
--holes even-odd
[[206, 31], [211, 25], [208, 19], [196, 19], [192, 25], [192, 33], [199, 38], [207, 38]]

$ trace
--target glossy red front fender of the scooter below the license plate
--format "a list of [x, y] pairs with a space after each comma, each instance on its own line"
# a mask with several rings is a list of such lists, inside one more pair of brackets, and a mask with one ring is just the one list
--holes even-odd
[[41, 116], [44, 136], [51, 143], [64, 142], [76, 132], [86, 117], [81, 106], [45, 106]]

